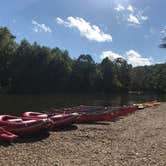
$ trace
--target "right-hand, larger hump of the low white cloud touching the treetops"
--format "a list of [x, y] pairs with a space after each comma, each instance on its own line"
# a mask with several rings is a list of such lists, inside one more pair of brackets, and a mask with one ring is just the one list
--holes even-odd
[[143, 58], [138, 52], [134, 50], [127, 51], [126, 55], [128, 63], [133, 67], [151, 65], [153, 61], [152, 58]]

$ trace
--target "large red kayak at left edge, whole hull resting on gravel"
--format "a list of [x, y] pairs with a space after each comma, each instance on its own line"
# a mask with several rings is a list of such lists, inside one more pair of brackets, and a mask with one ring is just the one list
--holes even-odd
[[17, 135], [31, 135], [51, 126], [49, 119], [30, 119], [11, 115], [0, 115], [0, 126]]

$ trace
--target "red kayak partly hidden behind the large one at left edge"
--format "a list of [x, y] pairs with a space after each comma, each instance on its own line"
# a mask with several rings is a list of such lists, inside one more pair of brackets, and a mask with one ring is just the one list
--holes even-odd
[[40, 113], [40, 112], [25, 112], [23, 117], [33, 119], [49, 118], [53, 122], [53, 127], [70, 125], [79, 117], [78, 113]]

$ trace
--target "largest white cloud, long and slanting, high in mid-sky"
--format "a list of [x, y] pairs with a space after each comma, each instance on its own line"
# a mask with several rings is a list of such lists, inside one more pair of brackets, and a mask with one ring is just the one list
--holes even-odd
[[104, 33], [98, 26], [91, 25], [91, 23], [87, 22], [83, 18], [68, 17], [65, 21], [57, 17], [56, 22], [66, 27], [77, 29], [82, 36], [86, 37], [89, 40], [97, 42], [112, 41], [112, 36], [110, 34]]

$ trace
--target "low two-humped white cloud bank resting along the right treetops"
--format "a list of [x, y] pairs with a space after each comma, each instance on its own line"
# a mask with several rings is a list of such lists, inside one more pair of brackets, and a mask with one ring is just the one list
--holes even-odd
[[112, 61], [117, 58], [123, 58], [128, 62], [128, 64], [131, 64], [133, 67], [153, 64], [153, 58], [144, 58], [135, 50], [129, 50], [124, 55], [120, 55], [112, 51], [103, 51], [100, 55], [100, 58], [104, 59], [106, 57], [108, 57]]

